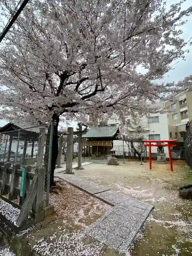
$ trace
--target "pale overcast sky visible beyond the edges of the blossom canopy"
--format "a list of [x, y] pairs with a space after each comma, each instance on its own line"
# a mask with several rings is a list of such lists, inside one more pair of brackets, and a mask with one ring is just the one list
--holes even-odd
[[[167, 6], [179, 2], [179, 0], [167, 0]], [[187, 9], [189, 6], [192, 6], [192, 0], [186, 0], [183, 4], [183, 9]], [[192, 15], [187, 17], [188, 22], [182, 27], [183, 34], [182, 38], [188, 40], [192, 37]], [[192, 46], [188, 46], [186, 49], [189, 49], [189, 53], [187, 53], [186, 60], [180, 61], [175, 65], [175, 70], [168, 72], [165, 76], [163, 81], [164, 82], [178, 82], [179, 80], [183, 80], [186, 76], [192, 74]], [[0, 126], [4, 126], [7, 122], [4, 120], [0, 120]], [[72, 126], [76, 127], [76, 122], [71, 123]], [[62, 124], [65, 126], [65, 124]]]

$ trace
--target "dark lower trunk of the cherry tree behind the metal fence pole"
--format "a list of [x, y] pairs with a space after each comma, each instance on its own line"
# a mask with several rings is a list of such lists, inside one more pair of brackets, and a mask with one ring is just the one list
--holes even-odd
[[[54, 170], [57, 161], [58, 155], [58, 123], [59, 117], [53, 115], [53, 141], [52, 141], [52, 156], [51, 156], [51, 173], [50, 173], [50, 187], [54, 186]], [[49, 162], [49, 146], [50, 146], [50, 132], [51, 132], [51, 125], [48, 128], [48, 133], [46, 137], [46, 151], [44, 156], [44, 166], [46, 168], [46, 182], [45, 186], [47, 187], [47, 173], [48, 173], [48, 162]]]

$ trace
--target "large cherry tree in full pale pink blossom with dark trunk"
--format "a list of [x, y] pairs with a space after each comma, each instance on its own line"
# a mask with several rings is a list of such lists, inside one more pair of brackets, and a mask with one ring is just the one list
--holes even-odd
[[[1, 117], [31, 124], [138, 118], [175, 89], [155, 83], [184, 59], [184, 0], [31, 0], [0, 47]], [[1, 0], [7, 20], [15, 0]], [[143, 70], [143, 72], [142, 72]]]

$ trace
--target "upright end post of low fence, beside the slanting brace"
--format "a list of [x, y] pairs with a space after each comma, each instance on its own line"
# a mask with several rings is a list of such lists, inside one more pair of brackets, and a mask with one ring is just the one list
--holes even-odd
[[44, 187], [45, 187], [46, 169], [38, 168], [37, 195], [32, 207], [32, 213], [35, 217], [35, 223], [44, 219]]

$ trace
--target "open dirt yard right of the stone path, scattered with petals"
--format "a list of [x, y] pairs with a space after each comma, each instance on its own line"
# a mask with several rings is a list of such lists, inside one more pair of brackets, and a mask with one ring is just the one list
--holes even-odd
[[75, 175], [155, 206], [131, 255], [191, 255], [192, 201], [180, 199], [178, 188], [192, 184], [192, 173], [182, 160], [173, 162], [173, 173], [169, 163], [154, 161], [152, 170], [148, 165], [128, 160], [119, 166], [90, 164]]

